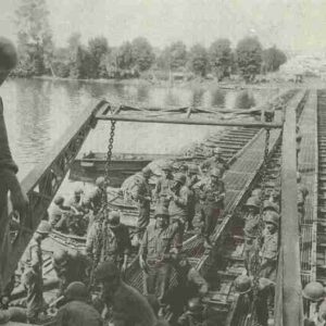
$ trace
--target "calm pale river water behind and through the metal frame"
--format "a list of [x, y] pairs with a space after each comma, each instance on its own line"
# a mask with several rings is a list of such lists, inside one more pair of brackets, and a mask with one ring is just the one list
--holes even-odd
[[[266, 100], [271, 91], [251, 92], [255, 103]], [[166, 88], [143, 85], [99, 84], [63, 80], [12, 79], [0, 88], [14, 160], [22, 179], [50, 150], [51, 146], [89, 105], [105, 98], [146, 105], [204, 105], [220, 108], [237, 104], [239, 91], [217, 87]], [[241, 102], [241, 101], [240, 101]], [[91, 131], [82, 151], [104, 151], [108, 123]], [[117, 123], [114, 151], [175, 153], [186, 145], [200, 141], [217, 127]]]

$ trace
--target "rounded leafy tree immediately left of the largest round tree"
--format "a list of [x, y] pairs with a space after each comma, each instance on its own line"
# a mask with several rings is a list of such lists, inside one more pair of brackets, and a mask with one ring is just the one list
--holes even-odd
[[229, 75], [233, 65], [233, 51], [230, 41], [225, 38], [215, 40], [210, 49], [209, 57], [211, 67], [218, 80]]

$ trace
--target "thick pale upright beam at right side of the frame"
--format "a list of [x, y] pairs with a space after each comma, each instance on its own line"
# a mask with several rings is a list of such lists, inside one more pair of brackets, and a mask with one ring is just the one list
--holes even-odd
[[275, 325], [303, 325], [301, 297], [299, 222], [297, 208], [296, 109], [285, 112], [281, 148], [281, 221]]

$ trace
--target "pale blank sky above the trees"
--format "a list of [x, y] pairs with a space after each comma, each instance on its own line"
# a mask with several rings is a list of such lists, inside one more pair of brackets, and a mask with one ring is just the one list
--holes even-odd
[[[0, 0], [0, 35], [15, 38], [14, 10], [22, 0]], [[47, 0], [53, 39], [64, 46], [104, 36], [110, 46], [143, 36], [158, 48], [183, 40], [209, 47], [220, 37], [233, 46], [258, 36], [264, 47], [326, 52], [326, 0]]]

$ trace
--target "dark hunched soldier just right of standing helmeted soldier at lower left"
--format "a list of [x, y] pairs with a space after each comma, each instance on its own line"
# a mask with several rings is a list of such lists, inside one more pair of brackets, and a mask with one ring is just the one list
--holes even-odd
[[58, 250], [53, 253], [53, 268], [60, 279], [58, 297], [64, 294], [67, 286], [73, 281], [88, 284], [91, 262], [79, 251], [70, 253]]

